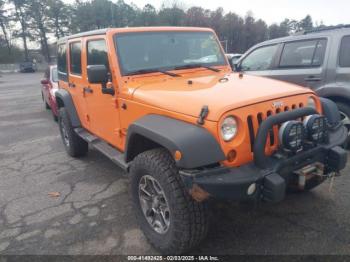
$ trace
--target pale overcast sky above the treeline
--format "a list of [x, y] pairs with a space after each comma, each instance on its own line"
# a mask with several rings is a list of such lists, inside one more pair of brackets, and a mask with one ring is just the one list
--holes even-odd
[[[74, 0], [64, 0], [73, 3]], [[117, 0], [112, 0], [117, 2]], [[169, 5], [173, 0], [124, 0], [133, 2], [142, 8], [151, 3], [159, 9], [163, 3]], [[184, 8], [201, 6], [215, 10], [223, 7], [225, 13], [232, 11], [244, 16], [248, 11], [253, 12], [255, 18], [263, 19], [267, 24], [279, 23], [285, 18], [301, 20], [311, 15], [314, 22], [325, 25], [350, 24], [350, 0], [179, 0]]]

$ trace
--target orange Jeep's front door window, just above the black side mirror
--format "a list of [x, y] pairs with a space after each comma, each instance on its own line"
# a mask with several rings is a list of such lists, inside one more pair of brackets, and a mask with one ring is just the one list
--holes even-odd
[[92, 40], [87, 43], [88, 65], [105, 65], [108, 68], [106, 41]]

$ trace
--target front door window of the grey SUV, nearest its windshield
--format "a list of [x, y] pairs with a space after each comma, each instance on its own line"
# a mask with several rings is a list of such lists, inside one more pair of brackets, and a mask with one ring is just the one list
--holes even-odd
[[271, 67], [277, 45], [259, 47], [251, 52], [241, 63], [242, 71], [267, 70]]

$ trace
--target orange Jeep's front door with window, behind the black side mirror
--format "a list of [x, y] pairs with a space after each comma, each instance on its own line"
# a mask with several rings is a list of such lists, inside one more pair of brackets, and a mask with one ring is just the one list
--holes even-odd
[[[104, 36], [89, 37], [84, 43], [84, 74], [87, 74], [88, 65], [105, 65], [109, 68], [107, 45]], [[88, 77], [84, 77], [84, 98], [88, 107], [90, 132], [118, 147], [119, 140], [119, 111], [116, 103], [116, 95], [103, 94], [101, 84], [90, 84]], [[116, 87], [114, 87], [116, 88]]]

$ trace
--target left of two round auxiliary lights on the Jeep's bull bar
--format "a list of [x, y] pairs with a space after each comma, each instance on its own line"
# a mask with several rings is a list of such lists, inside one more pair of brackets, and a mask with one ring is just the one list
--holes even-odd
[[288, 121], [282, 124], [278, 137], [283, 148], [296, 152], [303, 146], [305, 128], [299, 121]]

